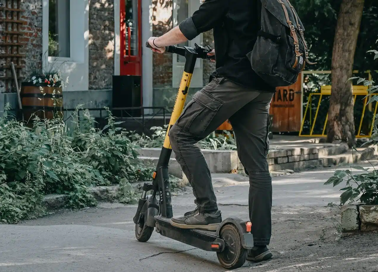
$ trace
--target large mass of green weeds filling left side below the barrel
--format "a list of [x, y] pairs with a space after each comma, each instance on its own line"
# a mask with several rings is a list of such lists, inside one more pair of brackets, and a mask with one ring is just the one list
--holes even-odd
[[123, 131], [116, 133], [120, 129], [108, 109], [105, 132], [95, 130], [88, 111], [79, 122], [80, 108], [68, 134], [61, 117], [35, 117], [31, 129], [8, 116], [6, 105], [0, 118], [0, 222], [43, 214], [46, 194], [66, 194], [68, 207], [81, 208], [96, 204], [90, 187], [151, 177], [153, 169], [138, 160], [136, 145]]

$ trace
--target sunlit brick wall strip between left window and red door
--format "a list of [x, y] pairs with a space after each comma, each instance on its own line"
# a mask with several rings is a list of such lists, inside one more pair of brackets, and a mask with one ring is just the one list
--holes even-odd
[[89, 0], [89, 89], [111, 89], [114, 75], [114, 1]]

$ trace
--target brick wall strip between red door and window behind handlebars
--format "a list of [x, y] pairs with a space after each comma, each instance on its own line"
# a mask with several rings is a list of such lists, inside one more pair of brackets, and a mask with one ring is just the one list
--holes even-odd
[[[172, 28], [172, 0], [152, 1], [152, 36], [161, 36]], [[172, 87], [172, 54], [153, 54], [154, 88]]]

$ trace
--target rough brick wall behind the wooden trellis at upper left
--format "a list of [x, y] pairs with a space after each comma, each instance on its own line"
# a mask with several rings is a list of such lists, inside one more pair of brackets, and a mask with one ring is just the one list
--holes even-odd
[[[10, 3], [11, 1], [7, 0], [7, 2]], [[12, 2], [15, 3], [17, 1], [12, 0]], [[0, 6], [5, 6], [5, 3], [6, 0], [0, 0]], [[14, 7], [17, 6], [14, 5]], [[26, 77], [33, 70], [40, 69], [42, 67], [42, 0], [22, 0], [20, 8], [25, 10], [21, 14], [20, 20], [26, 21], [25, 25], [20, 27], [20, 31], [24, 32], [25, 34], [19, 40], [20, 43], [24, 44], [24, 46], [20, 48], [20, 53], [25, 54], [25, 58], [22, 59], [21, 64], [25, 65], [25, 69], [22, 70], [22, 76]], [[5, 17], [4, 11], [0, 11], [0, 17]], [[11, 18], [9, 17], [8, 19]], [[5, 30], [5, 23], [1, 23], [0, 25], [0, 30]], [[8, 28], [10, 25], [11, 24], [8, 24]], [[9, 28], [8, 30], [11, 29]], [[5, 40], [5, 36], [2, 35], [1, 38], [2, 41]], [[0, 63], [0, 65], [4, 64], [5, 63]], [[0, 92], [10, 91], [15, 90], [6, 90], [4, 83], [0, 81]]]

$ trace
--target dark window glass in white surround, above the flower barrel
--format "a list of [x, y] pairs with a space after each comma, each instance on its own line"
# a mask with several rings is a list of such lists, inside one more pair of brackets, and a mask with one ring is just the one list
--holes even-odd
[[70, 58], [70, 0], [49, 0], [48, 55]]

